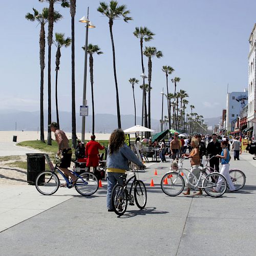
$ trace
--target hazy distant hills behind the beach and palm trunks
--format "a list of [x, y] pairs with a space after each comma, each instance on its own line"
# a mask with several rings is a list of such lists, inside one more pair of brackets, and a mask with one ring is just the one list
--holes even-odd
[[[47, 131], [48, 115], [45, 112], [44, 127]], [[219, 123], [220, 117], [205, 118], [208, 121], [208, 126], [213, 126]], [[1, 131], [37, 131], [40, 130], [40, 112], [28, 112], [17, 110], [1, 110], [0, 111], [0, 130]], [[56, 112], [52, 113], [52, 120], [56, 121]], [[71, 112], [59, 112], [60, 129], [65, 132], [72, 131]], [[134, 125], [134, 115], [121, 115], [122, 129], [127, 129]], [[136, 124], [141, 124], [141, 117], [136, 118]], [[81, 132], [81, 117], [76, 115], [76, 131]], [[151, 120], [151, 129], [155, 132], [161, 131], [160, 121], [156, 119]], [[96, 133], [111, 133], [117, 128], [117, 116], [112, 114], [96, 114], [95, 115], [95, 132]], [[86, 117], [86, 131], [90, 132], [92, 129], [92, 116]]]

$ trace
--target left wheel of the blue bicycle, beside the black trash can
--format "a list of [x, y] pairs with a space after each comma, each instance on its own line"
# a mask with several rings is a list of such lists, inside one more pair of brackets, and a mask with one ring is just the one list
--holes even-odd
[[55, 173], [46, 170], [37, 175], [35, 187], [42, 195], [52, 195], [59, 188], [59, 178]]

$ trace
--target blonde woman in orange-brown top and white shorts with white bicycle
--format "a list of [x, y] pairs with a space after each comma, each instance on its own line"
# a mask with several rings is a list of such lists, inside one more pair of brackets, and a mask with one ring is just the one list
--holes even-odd
[[[183, 154], [182, 157], [185, 156], [185, 157], [191, 158], [191, 160], [190, 160], [191, 172], [188, 174], [187, 178], [190, 183], [193, 183], [194, 176], [191, 175], [191, 173], [194, 174], [197, 177], [197, 179], [200, 176], [199, 166], [200, 166], [201, 160], [200, 160], [198, 139], [193, 138], [191, 140], [191, 147], [193, 148], [193, 150], [191, 150], [190, 154]], [[191, 188], [190, 184], [187, 183], [187, 191], [185, 193], [183, 193], [185, 196], [190, 195], [190, 188]], [[202, 195], [202, 194], [203, 194], [202, 189], [199, 188], [199, 192], [196, 193], [195, 195]]]

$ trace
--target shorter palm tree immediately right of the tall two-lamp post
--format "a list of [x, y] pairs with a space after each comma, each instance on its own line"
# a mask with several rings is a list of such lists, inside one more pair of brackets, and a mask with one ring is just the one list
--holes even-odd
[[[85, 47], [82, 47], [83, 50], [86, 50]], [[92, 91], [92, 109], [93, 109], [93, 126], [92, 126], [92, 134], [94, 134], [94, 94], [93, 94], [93, 54], [97, 53], [98, 55], [103, 54], [103, 52], [100, 51], [100, 48], [97, 45], [88, 45], [89, 54], [89, 65], [90, 65], [90, 80], [91, 80], [91, 91]]]

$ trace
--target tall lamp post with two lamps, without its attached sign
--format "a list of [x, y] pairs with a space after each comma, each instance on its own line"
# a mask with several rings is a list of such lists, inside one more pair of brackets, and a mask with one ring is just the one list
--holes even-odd
[[[89, 20], [89, 7], [87, 9], [87, 17], [83, 16], [79, 19], [79, 22], [86, 23], [86, 44], [84, 49], [84, 70], [83, 70], [83, 94], [82, 94], [82, 105], [87, 105], [86, 100], [86, 81], [87, 81], [87, 51], [88, 51], [88, 29], [95, 28], [95, 26]], [[84, 137], [86, 134], [86, 116], [82, 116], [82, 132], [81, 141], [84, 142]]]

